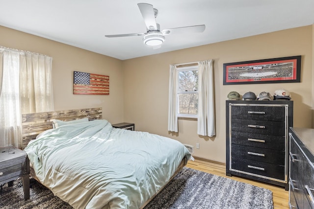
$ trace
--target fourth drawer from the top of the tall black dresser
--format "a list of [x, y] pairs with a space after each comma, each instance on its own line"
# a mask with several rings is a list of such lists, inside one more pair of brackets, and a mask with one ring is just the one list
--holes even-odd
[[253, 161], [285, 165], [284, 151], [232, 144], [231, 155]]

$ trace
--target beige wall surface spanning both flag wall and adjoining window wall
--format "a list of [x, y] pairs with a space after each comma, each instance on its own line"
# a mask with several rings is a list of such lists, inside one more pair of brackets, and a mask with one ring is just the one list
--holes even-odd
[[[231, 91], [256, 94], [285, 88], [294, 100], [294, 126], [312, 127], [314, 26], [236, 39], [121, 61], [0, 26], [0, 46], [53, 57], [55, 110], [102, 107], [111, 123], [134, 122], [135, 129], [196, 145], [194, 156], [225, 162], [225, 100]], [[223, 86], [223, 63], [302, 55], [301, 83]], [[197, 135], [197, 122], [179, 121], [179, 134], [167, 131], [169, 65], [214, 60], [216, 137]], [[110, 95], [74, 95], [73, 71], [110, 76]]]

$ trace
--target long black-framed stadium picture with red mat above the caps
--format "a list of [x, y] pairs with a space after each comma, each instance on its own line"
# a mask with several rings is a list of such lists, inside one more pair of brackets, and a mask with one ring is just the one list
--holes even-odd
[[224, 63], [223, 85], [301, 82], [301, 55]]

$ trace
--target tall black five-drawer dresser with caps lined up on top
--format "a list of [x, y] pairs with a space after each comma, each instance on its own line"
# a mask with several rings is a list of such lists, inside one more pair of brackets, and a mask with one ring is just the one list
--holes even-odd
[[288, 190], [288, 130], [293, 101], [226, 101], [226, 175]]

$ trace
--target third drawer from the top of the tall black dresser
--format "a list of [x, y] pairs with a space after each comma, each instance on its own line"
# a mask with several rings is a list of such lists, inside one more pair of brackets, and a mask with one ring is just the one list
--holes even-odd
[[234, 144], [285, 151], [285, 141], [286, 139], [284, 136], [272, 136], [235, 131], [231, 132], [231, 142]]

